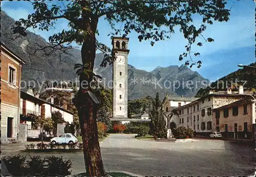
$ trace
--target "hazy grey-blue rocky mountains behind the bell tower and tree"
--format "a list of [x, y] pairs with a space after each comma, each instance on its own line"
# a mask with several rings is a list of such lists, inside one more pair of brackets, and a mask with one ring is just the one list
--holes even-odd
[[[33, 55], [29, 55], [28, 45], [33, 43], [44, 44], [47, 41], [39, 35], [28, 32], [26, 37], [20, 37], [16, 40], [10, 40], [6, 37], [6, 33], [11, 32], [11, 28], [14, 26], [15, 20], [8, 16], [4, 11], [1, 11], [1, 42], [5, 43], [13, 52], [22, 57], [26, 64], [23, 67], [22, 80], [37, 80], [39, 82], [46, 80], [75, 80], [74, 64], [80, 63], [80, 51], [77, 49], [68, 50], [68, 54], [53, 54], [46, 56], [43, 51], [37, 51]], [[100, 63], [103, 59], [103, 54], [96, 54], [95, 58], [95, 73], [101, 75], [106, 81], [112, 80], [112, 65], [107, 65], [105, 68], [100, 67]], [[157, 61], [156, 61], [157, 63]], [[138, 70], [132, 65], [129, 65], [128, 69], [128, 83], [129, 83], [129, 99], [144, 98], [146, 96], [154, 96], [157, 92], [161, 98], [163, 98], [168, 92], [168, 95], [173, 96], [185, 96], [193, 97], [197, 94], [201, 87], [200, 82], [207, 79], [203, 78], [199, 73], [191, 71], [185, 65], [180, 67], [177, 65], [170, 65], [169, 67], [157, 67], [151, 72], [144, 70]], [[64, 76], [63, 76], [64, 75]], [[160, 80], [160, 81], [159, 81]], [[188, 89], [182, 87], [186, 85], [187, 81], [198, 81], [195, 89]], [[159, 82], [158, 82], [159, 81]], [[159, 83], [158, 86], [155, 83]], [[173, 89], [174, 84], [179, 89]], [[171, 84], [171, 85], [169, 85]], [[166, 88], [164, 88], [164, 85]]]

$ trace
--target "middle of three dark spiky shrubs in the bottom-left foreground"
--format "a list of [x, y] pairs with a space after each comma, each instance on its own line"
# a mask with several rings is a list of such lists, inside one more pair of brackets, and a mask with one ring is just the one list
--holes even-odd
[[45, 160], [41, 159], [40, 156], [30, 156], [30, 160], [27, 161], [26, 165], [28, 168], [26, 170], [27, 175], [42, 176], [45, 174]]

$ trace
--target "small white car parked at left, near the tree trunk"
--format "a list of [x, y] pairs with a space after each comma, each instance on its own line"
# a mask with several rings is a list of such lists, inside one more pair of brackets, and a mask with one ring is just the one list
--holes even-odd
[[51, 140], [52, 144], [74, 144], [77, 143], [78, 140], [73, 134], [60, 134], [58, 137], [54, 137]]

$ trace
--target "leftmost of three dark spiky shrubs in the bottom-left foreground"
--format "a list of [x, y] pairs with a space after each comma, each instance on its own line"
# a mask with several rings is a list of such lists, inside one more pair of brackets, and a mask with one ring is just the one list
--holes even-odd
[[17, 154], [15, 156], [4, 157], [3, 161], [13, 176], [25, 176], [26, 175], [26, 165], [25, 165], [26, 157], [20, 156]]

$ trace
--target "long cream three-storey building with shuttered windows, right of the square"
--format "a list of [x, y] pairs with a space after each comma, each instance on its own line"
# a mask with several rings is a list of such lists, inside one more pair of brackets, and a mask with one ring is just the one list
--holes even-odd
[[243, 97], [245, 97], [243, 92], [231, 93], [230, 90], [210, 93], [174, 109], [173, 120], [178, 127], [195, 130], [198, 136], [209, 136], [212, 131], [217, 131], [212, 110], [241, 100]]

